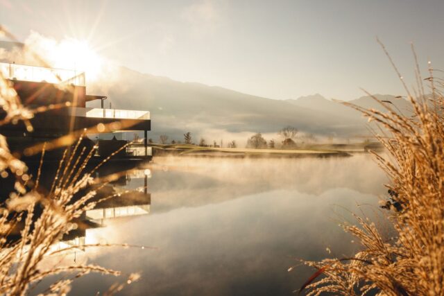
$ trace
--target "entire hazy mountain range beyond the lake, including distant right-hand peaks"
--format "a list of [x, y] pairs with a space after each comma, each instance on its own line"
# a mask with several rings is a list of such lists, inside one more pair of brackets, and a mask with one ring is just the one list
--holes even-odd
[[[18, 42], [0, 41], [0, 59], [2, 49], [6, 53], [23, 46]], [[245, 140], [255, 132], [262, 132], [270, 139], [277, 137], [276, 132], [287, 125], [328, 137], [368, 134], [366, 119], [359, 112], [320, 94], [273, 100], [222, 87], [178, 82], [125, 67], [111, 68], [96, 82], [87, 80], [88, 93], [107, 95], [114, 108], [150, 111], [153, 139], [160, 134], [168, 134], [170, 140], [182, 139], [185, 132], [191, 132], [194, 141], [198, 141], [198, 137], [207, 137], [210, 141]], [[409, 109], [404, 99], [389, 95], [377, 95], [377, 98], [391, 101], [399, 110]], [[382, 109], [369, 96], [350, 103]], [[93, 104], [92, 107], [99, 106]]]

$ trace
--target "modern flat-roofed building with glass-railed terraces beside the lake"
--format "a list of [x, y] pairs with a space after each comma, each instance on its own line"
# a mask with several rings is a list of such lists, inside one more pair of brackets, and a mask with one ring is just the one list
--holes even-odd
[[[1, 134], [8, 137], [12, 149], [23, 149], [66, 134], [78, 135], [83, 130], [87, 130], [87, 134], [143, 131], [144, 139], [132, 143], [118, 157], [151, 158], [151, 147], [147, 145], [147, 132], [151, 130], [150, 112], [105, 109], [103, 101], [106, 96], [87, 94], [85, 73], [5, 62], [0, 62], [0, 73], [12, 82], [23, 105], [30, 110], [44, 110], [35, 113], [31, 119], [32, 132], [26, 130], [23, 122], [1, 126]], [[101, 101], [101, 108], [87, 107], [88, 102], [97, 100]], [[6, 112], [1, 110], [0, 120], [5, 116]], [[108, 157], [127, 143], [117, 138], [96, 141], [99, 157]]]

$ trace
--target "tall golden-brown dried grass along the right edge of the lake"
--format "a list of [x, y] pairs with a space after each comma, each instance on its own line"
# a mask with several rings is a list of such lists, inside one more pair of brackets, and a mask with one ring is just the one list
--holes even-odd
[[[416, 59], [414, 49], [413, 55]], [[374, 223], [355, 216], [357, 225], [345, 223], [343, 228], [358, 238], [360, 252], [348, 260], [306, 261], [318, 269], [300, 289], [307, 295], [444, 295], [443, 80], [434, 78], [430, 62], [429, 77], [422, 79], [416, 62], [417, 83], [410, 90], [395, 71], [413, 116], [395, 112], [390, 102], [379, 101], [386, 112], [351, 105], [382, 127], [377, 138], [388, 156], [375, 157], [391, 180], [386, 206], [395, 239], [384, 238]]]

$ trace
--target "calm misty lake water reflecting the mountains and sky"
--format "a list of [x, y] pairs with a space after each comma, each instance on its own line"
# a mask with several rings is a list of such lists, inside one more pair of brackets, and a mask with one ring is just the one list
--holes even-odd
[[[358, 246], [338, 223], [357, 204], [375, 209], [386, 182], [369, 155], [157, 158], [146, 167], [116, 186], [138, 189], [147, 181], [151, 202], [105, 209], [104, 219], [103, 210], [87, 214], [103, 227], [87, 229], [83, 239], [158, 249], [78, 250], [65, 258], [140, 272], [121, 295], [291, 295], [313, 272], [287, 272], [298, 259], [353, 254]], [[96, 295], [123, 279], [88, 275], [71, 295]]]

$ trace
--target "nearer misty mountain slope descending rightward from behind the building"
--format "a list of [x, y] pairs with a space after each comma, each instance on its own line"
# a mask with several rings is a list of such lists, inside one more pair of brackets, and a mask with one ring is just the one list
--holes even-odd
[[364, 125], [344, 120], [340, 113], [312, 110], [289, 101], [177, 82], [126, 68], [120, 68], [118, 76], [118, 82], [107, 89], [113, 106], [150, 111], [154, 134], [182, 137], [186, 131], [200, 134], [203, 130], [277, 132], [285, 125], [316, 134], [346, 136], [366, 132]]

